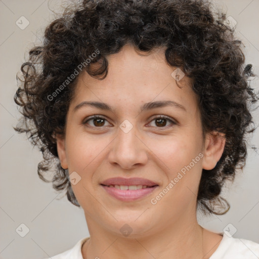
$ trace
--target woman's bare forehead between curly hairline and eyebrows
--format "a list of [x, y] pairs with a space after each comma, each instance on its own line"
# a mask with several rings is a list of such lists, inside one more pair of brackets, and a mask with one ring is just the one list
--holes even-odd
[[164, 52], [165, 48], [161, 47], [148, 53], [137, 53], [133, 46], [125, 45], [119, 53], [106, 57], [108, 74], [103, 80], [87, 72], [79, 75], [71, 106], [95, 100], [126, 108], [172, 100], [196, 109], [197, 96], [191, 88], [191, 79], [184, 76], [177, 81], [172, 76], [176, 68], [166, 64]]

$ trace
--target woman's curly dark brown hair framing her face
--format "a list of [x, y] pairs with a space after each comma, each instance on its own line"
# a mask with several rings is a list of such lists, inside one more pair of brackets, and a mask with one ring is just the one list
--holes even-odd
[[[22, 64], [14, 97], [23, 114], [14, 128], [26, 132], [44, 158], [37, 168], [40, 179], [52, 182], [56, 190], [65, 190], [68, 200], [80, 206], [68, 171], [61, 167], [55, 139], [55, 134], [65, 135], [66, 114], [78, 78], [69, 76], [76, 70], [104, 79], [106, 56], [127, 43], [144, 52], [165, 47], [166, 63], [181, 67], [193, 79], [203, 134], [225, 135], [217, 166], [202, 171], [197, 207], [205, 214], [226, 213], [230, 205], [220, 196], [221, 190], [245, 165], [246, 134], [254, 131], [250, 111], [258, 97], [250, 87], [254, 74], [252, 66], [244, 64], [242, 42], [225, 25], [226, 14], [212, 10], [202, 0], [84, 0], [56, 17], [45, 30], [42, 46], [34, 46]], [[86, 64], [89, 58], [91, 63]], [[55, 175], [47, 180], [52, 166]]]

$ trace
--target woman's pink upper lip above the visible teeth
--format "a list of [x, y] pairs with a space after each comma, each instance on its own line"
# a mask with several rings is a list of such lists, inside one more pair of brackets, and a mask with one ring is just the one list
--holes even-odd
[[102, 185], [124, 185], [124, 186], [131, 186], [131, 185], [146, 185], [146, 186], [155, 186], [158, 185], [157, 183], [145, 179], [145, 178], [122, 178], [122, 177], [114, 177], [109, 178], [101, 183]]

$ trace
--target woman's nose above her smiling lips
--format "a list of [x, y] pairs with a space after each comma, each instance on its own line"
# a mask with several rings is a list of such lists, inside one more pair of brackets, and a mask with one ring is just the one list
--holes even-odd
[[108, 156], [111, 164], [123, 169], [133, 169], [147, 163], [148, 148], [142, 142], [137, 126], [133, 126], [127, 133], [118, 128], [118, 135], [111, 144]]

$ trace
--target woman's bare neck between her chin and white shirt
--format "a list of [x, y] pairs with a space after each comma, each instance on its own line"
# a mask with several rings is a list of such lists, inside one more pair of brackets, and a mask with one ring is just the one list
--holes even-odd
[[[180, 221], [180, 222], [179, 222]], [[95, 221], [87, 220], [91, 238], [82, 247], [84, 259], [89, 258], [206, 258], [204, 257], [203, 229], [197, 219], [190, 218], [183, 224], [180, 219], [166, 224], [152, 234], [124, 237], [100, 227]]]

